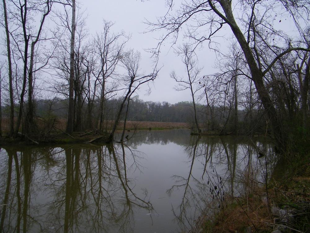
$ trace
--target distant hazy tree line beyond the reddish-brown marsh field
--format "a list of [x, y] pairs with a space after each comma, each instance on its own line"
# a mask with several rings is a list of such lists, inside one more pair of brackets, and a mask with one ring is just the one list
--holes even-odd
[[[113, 121], [117, 115], [117, 110], [122, 103], [123, 98], [111, 98], [104, 103], [104, 120]], [[35, 112], [39, 119], [66, 119], [68, 114], [68, 100], [67, 99], [41, 99], [35, 100]], [[202, 105], [198, 105], [200, 109]], [[94, 128], [100, 125], [100, 100], [94, 100], [94, 111], [91, 114], [91, 121]], [[87, 116], [87, 103], [83, 103], [80, 108], [81, 111], [81, 130], [89, 128], [86, 121], [89, 121]], [[203, 112], [200, 112], [202, 119]], [[9, 106], [2, 106], [2, 117], [9, 117]], [[125, 117], [125, 109], [121, 112], [120, 119]], [[138, 96], [131, 98], [130, 107], [127, 113], [127, 120], [130, 121], [157, 121], [157, 122], [191, 122], [193, 120], [193, 104], [191, 102], [179, 102], [170, 104], [168, 102], [153, 102], [143, 101]]]

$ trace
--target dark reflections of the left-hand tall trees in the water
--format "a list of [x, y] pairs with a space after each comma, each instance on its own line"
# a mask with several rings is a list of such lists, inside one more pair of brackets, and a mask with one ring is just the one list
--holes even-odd
[[150, 213], [153, 206], [146, 190], [144, 196], [133, 191], [126, 172], [140, 169], [140, 157], [129, 155], [124, 144], [2, 148], [0, 231], [133, 231], [134, 209]]

